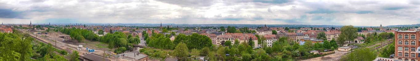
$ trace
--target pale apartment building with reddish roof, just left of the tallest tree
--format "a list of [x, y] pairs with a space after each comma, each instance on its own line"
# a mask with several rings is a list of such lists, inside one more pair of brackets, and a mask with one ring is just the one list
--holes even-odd
[[327, 37], [327, 41], [337, 40], [339, 38], [341, 31], [337, 29], [328, 30], [325, 32], [325, 36]]

